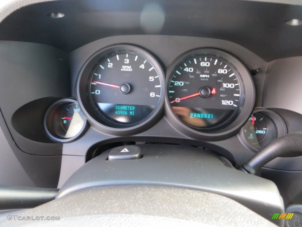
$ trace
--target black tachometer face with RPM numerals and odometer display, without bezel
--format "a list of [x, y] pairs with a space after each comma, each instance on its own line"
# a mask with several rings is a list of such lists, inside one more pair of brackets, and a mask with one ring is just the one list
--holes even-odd
[[127, 127], [146, 119], [159, 103], [156, 64], [135, 51], [113, 51], [92, 69], [87, 93], [102, 123]]

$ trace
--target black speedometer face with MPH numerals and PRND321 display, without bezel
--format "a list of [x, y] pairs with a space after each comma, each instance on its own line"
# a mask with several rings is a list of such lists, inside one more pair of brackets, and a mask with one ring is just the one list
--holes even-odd
[[210, 54], [182, 61], [171, 75], [168, 100], [190, 127], [209, 129], [230, 121], [243, 99], [240, 75], [225, 59]]

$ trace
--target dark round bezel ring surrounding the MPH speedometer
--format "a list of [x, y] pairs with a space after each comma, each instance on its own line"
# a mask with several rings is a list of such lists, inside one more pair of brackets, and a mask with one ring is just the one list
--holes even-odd
[[238, 73], [237, 76], [240, 79], [242, 99], [241, 106], [236, 111], [236, 113], [233, 114], [232, 118], [229, 119], [229, 122], [227, 124], [222, 124], [223, 127], [216, 127], [207, 130], [198, 130], [196, 128], [189, 127], [184, 122], [182, 122], [182, 120], [180, 120], [178, 116], [175, 115], [174, 111], [172, 110], [169, 104], [168, 94], [166, 93], [165, 117], [167, 118], [168, 122], [172, 125], [172, 127], [191, 138], [197, 140], [217, 141], [235, 136], [240, 130], [240, 128], [243, 126], [243, 124], [246, 122], [247, 117], [254, 108], [255, 86], [248, 69], [236, 57], [218, 49], [199, 48], [188, 51], [178, 56], [178, 58], [176, 58], [175, 61], [173, 61], [169, 65], [166, 78], [166, 90], [168, 89], [167, 86], [169, 86], [173, 72], [178, 68], [180, 64], [190, 58], [194, 58], [195, 56], [206, 54], [215, 56], [218, 59], [223, 59], [234, 67], [234, 70], [236, 70], [236, 72]]

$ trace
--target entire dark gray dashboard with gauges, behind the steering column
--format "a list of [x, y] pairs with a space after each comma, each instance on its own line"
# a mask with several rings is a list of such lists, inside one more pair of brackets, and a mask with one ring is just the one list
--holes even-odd
[[[233, 0], [11, 12], [0, 24], [1, 184], [60, 188], [121, 145], [194, 146], [236, 166], [302, 131], [302, 28], [288, 25], [301, 13], [299, 3]], [[302, 203], [301, 163], [262, 168], [287, 205]]]

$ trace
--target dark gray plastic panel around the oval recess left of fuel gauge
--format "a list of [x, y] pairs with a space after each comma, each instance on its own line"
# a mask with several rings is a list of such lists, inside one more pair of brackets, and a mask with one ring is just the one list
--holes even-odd
[[[63, 59], [63, 60], [60, 60]], [[14, 142], [28, 154], [60, 155], [60, 143], [41, 143], [19, 134], [12, 125], [12, 116], [20, 107], [45, 97], [69, 97], [68, 55], [51, 46], [14, 41], [0, 41], [0, 108]], [[14, 75], [14, 76], [12, 76]], [[45, 99], [37, 106], [46, 111], [53, 100]], [[19, 111], [18, 111], [19, 112]], [[24, 115], [26, 112], [24, 112]], [[21, 113], [18, 114], [21, 116]], [[43, 114], [41, 125], [43, 125]], [[33, 118], [27, 120], [34, 121]], [[37, 119], [39, 120], [39, 119]], [[29, 129], [32, 130], [32, 129]], [[42, 132], [41, 132], [42, 133]]]

